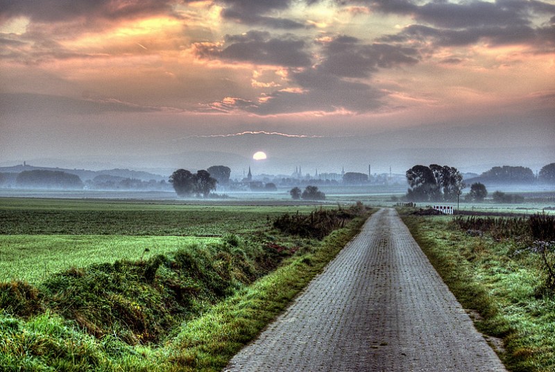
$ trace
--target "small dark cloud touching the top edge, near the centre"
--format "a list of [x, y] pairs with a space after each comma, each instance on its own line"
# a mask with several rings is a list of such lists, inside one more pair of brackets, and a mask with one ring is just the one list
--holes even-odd
[[274, 11], [287, 10], [290, 0], [220, 0], [219, 2], [224, 8], [223, 17], [239, 23], [289, 30], [306, 26], [304, 22], [271, 16]]

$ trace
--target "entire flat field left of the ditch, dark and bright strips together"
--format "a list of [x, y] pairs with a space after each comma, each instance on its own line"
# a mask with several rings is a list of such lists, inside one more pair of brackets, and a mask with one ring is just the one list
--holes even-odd
[[249, 235], [286, 212], [312, 210], [314, 205], [0, 198], [0, 281], [37, 282], [70, 267], [148, 259], [226, 234]]

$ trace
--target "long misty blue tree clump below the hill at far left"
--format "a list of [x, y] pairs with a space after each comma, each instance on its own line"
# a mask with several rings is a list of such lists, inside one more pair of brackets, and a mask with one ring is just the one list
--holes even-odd
[[83, 189], [83, 181], [75, 174], [63, 171], [22, 171], [15, 179], [17, 187], [38, 189]]

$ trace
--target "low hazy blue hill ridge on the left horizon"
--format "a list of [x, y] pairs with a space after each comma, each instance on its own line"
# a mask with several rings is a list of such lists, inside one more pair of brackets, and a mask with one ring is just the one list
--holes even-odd
[[160, 174], [152, 174], [146, 171], [133, 171], [130, 169], [105, 169], [101, 171], [89, 171], [87, 169], [65, 169], [65, 168], [52, 168], [52, 167], [34, 167], [29, 164], [19, 164], [14, 167], [0, 167], [0, 173], [4, 174], [19, 174], [22, 171], [62, 171], [67, 174], [75, 174], [79, 176], [83, 182], [87, 180], [92, 180], [96, 176], [106, 175], [115, 176], [121, 178], [135, 178], [137, 180], [149, 181], [149, 180], [167, 180], [167, 177], [160, 176]]

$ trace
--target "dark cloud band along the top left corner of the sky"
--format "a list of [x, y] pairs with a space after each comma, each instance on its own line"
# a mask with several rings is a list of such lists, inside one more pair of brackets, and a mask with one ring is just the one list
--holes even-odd
[[171, 13], [175, 0], [0, 0], [0, 21], [25, 16], [35, 22], [127, 19]]

